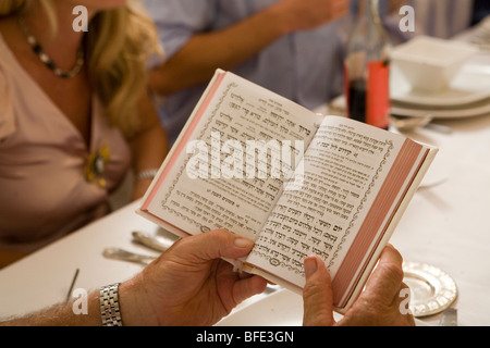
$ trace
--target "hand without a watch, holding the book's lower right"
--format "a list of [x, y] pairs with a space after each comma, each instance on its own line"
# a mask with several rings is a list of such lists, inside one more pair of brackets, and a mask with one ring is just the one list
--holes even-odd
[[400, 304], [405, 297], [400, 291], [407, 286], [403, 283], [402, 256], [392, 246], [381, 253], [366, 289], [335, 323], [333, 319], [333, 296], [330, 273], [321, 259], [305, 259], [306, 286], [303, 291], [304, 319], [307, 326], [413, 326], [414, 318], [403, 314]]

